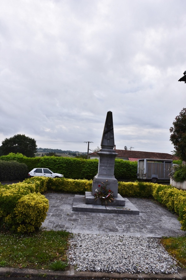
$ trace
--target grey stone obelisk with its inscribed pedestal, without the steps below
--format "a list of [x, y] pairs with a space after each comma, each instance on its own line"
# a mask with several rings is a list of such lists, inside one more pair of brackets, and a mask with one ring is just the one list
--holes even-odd
[[95, 175], [92, 182], [92, 195], [98, 185], [102, 182], [108, 182], [108, 188], [113, 191], [113, 197], [118, 194], [118, 182], [114, 176], [115, 157], [117, 156], [114, 150], [114, 129], [112, 112], [107, 112], [103, 136], [101, 140], [101, 150], [97, 153], [99, 155], [98, 173]]

